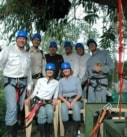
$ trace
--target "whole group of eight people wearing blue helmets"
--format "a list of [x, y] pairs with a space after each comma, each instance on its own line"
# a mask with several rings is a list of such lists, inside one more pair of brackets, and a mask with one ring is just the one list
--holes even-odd
[[113, 61], [107, 51], [97, 48], [94, 39], [87, 41], [92, 56], [85, 53], [82, 43], [76, 43], [74, 53], [70, 41], [64, 43], [63, 56], [57, 54], [58, 47], [55, 41], [50, 42], [49, 53], [43, 54], [39, 49], [39, 33], [33, 35], [33, 45], [29, 52], [26, 52], [27, 39], [27, 32], [20, 30], [16, 36], [16, 44], [9, 45], [0, 52], [8, 137], [17, 137], [18, 109], [22, 110], [24, 103], [30, 105], [33, 99], [44, 102], [37, 113], [40, 137], [50, 137], [49, 131], [58, 99], [62, 103], [65, 136], [68, 136], [68, 109], [72, 109], [75, 131], [73, 136], [76, 137], [81, 121], [84, 85], [87, 85], [85, 87], [88, 102], [106, 102], [107, 75], [114, 68]]

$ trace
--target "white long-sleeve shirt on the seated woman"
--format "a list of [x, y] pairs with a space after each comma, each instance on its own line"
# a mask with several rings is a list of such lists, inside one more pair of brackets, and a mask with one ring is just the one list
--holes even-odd
[[40, 78], [32, 92], [30, 98], [37, 96], [40, 99], [57, 99], [59, 92], [59, 82], [55, 79], [48, 80], [46, 77]]

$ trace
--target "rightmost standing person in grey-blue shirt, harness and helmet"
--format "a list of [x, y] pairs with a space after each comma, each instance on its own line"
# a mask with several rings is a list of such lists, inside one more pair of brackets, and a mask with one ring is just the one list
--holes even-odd
[[97, 43], [94, 39], [88, 39], [87, 46], [92, 53], [92, 56], [87, 62], [87, 70], [82, 79], [82, 83], [88, 81], [89, 86], [86, 86], [88, 102], [103, 102], [107, 98], [108, 74], [114, 69], [114, 63], [106, 50], [97, 48]]

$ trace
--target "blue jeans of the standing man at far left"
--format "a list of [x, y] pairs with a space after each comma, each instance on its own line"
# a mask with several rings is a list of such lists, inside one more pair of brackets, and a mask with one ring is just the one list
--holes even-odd
[[[21, 88], [24, 88], [24, 91], [20, 90], [22, 94], [20, 95], [19, 99], [19, 106], [20, 110], [23, 109], [24, 99], [26, 95], [26, 83], [27, 80], [18, 80]], [[4, 77], [4, 84], [8, 83], [8, 78]], [[5, 101], [6, 101], [6, 116], [5, 122], [6, 125], [14, 125], [17, 122], [17, 113], [18, 113], [18, 105], [16, 100], [16, 79], [10, 79], [10, 82], [4, 87], [5, 91]], [[22, 88], [23, 89], [23, 88]]]

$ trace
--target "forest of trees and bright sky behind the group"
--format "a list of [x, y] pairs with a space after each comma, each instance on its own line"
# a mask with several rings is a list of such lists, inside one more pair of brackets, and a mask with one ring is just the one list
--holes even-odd
[[[127, 78], [127, 3], [123, 2], [123, 70]], [[109, 75], [109, 89], [118, 81], [118, 8], [117, 0], [1, 0], [0, 1], [0, 49], [15, 41], [19, 29], [29, 33], [26, 50], [35, 32], [42, 35], [40, 48], [48, 51], [50, 41], [58, 43], [58, 52], [64, 54], [65, 40], [82, 42], [86, 52], [88, 38], [94, 38], [98, 47], [110, 52], [116, 64]], [[5, 132], [5, 101], [2, 74], [0, 73], [0, 136]]]

